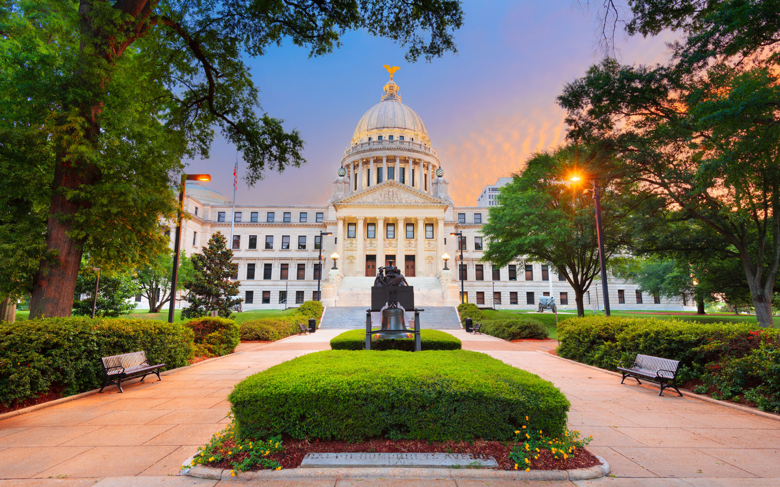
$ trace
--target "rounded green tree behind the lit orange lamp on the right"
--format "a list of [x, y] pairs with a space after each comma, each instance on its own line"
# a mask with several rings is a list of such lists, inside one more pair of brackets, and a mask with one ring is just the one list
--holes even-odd
[[600, 271], [594, 203], [590, 193], [566, 182], [569, 173], [601, 172], [605, 256], [625, 249], [622, 221], [631, 206], [609, 184], [608, 164], [597, 150], [562, 146], [534, 154], [522, 174], [498, 193], [482, 234], [488, 240], [482, 260], [505, 266], [517, 259], [549, 263], [574, 289], [577, 314], [584, 316], [583, 296]]

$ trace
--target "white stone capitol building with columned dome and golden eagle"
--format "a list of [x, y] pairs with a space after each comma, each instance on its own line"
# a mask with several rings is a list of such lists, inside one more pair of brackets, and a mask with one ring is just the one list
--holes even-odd
[[[446, 161], [439, 159], [420, 115], [402, 103], [392, 74], [383, 90], [379, 103], [357, 121], [341, 160], [334, 161], [327, 201], [319, 206], [257, 201], [236, 204], [233, 213], [229, 198], [189, 182], [184, 205], [190, 218], [183, 221], [181, 248], [188, 255], [200, 252], [216, 231], [229, 238], [232, 224], [229, 245], [245, 310], [312, 299], [365, 309], [378, 268], [391, 260], [414, 286], [417, 307], [457, 305], [460, 270], [466, 302], [535, 309], [541, 296], [551, 295], [559, 309], [576, 309], [569, 283], [545, 263], [518, 260], [498, 267], [480, 260], [488, 243], [480, 228], [488, 220], [489, 199], [482, 206], [453, 202], [447, 178], [458, 175], [445, 174]], [[612, 309], [695, 309], [617, 279], [609, 282], [609, 291]], [[602, 309], [603, 301], [601, 286], [594, 284], [586, 309]], [[183, 306], [186, 302], [177, 301], [176, 307]]]

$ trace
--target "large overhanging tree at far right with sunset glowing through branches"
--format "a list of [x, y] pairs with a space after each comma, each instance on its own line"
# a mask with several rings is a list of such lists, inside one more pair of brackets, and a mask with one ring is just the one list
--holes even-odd
[[600, 141], [639, 183], [737, 259], [761, 326], [780, 266], [780, 19], [776, 2], [637, 0], [629, 33], [681, 30], [668, 65], [607, 59], [559, 103], [569, 138]]

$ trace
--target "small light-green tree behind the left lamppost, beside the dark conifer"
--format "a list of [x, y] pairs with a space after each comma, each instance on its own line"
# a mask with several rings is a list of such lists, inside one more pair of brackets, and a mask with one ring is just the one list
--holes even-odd
[[[192, 262], [186, 252], [181, 252], [176, 291], [184, 289], [184, 283], [193, 277]], [[160, 312], [165, 303], [171, 300], [172, 250], [159, 254], [151, 263], [138, 267], [136, 272], [140, 293], [149, 302], [149, 312]]]

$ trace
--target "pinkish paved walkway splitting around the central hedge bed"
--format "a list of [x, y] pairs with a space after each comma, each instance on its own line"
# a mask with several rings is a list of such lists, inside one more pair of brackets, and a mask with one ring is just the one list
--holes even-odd
[[[0, 487], [11, 485], [235, 485], [173, 477], [179, 465], [226, 422], [225, 401], [246, 376], [329, 348], [342, 330], [319, 330], [272, 344], [242, 344], [233, 355], [163, 377], [0, 421]], [[536, 482], [561, 487], [739, 487], [780, 485], [780, 421], [716, 404], [658, 397], [653, 386], [621, 385], [615, 376], [540, 353], [554, 341], [510, 344], [448, 330], [463, 348], [484, 351], [548, 379], [572, 402], [569, 422], [593, 435], [590, 450], [615, 478]], [[16, 480], [14, 480], [16, 479]], [[24, 479], [24, 480], [22, 480]], [[290, 482], [247, 482], [283, 487]], [[296, 482], [303, 487], [360, 485], [476, 487], [475, 481]], [[490, 482], [491, 487], [517, 482]]]

